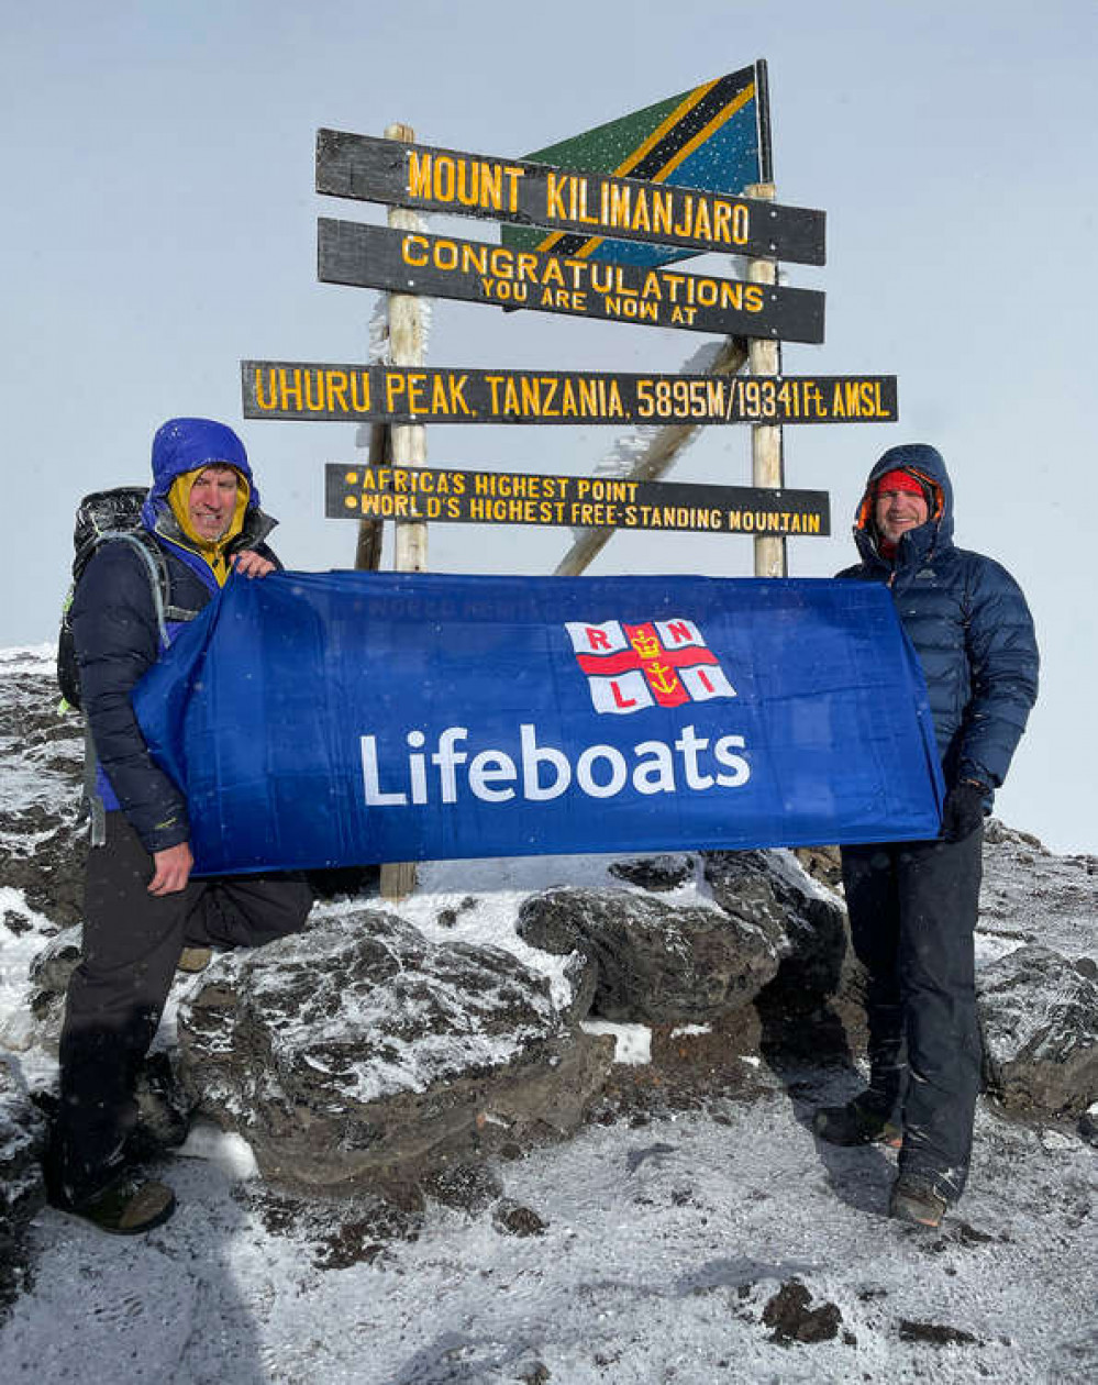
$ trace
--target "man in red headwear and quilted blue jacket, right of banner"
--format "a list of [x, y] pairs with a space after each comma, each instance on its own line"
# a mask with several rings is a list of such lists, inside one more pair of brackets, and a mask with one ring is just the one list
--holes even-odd
[[817, 1111], [814, 1129], [836, 1144], [899, 1144], [889, 1212], [937, 1226], [965, 1187], [980, 1083], [983, 817], [1037, 697], [1037, 644], [1014, 578], [954, 547], [953, 488], [933, 447], [885, 453], [854, 542], [861, 562], [839, 576], [892, 590], [926, 679], [947, 794], [936, 841], [843, 849], [850, 931], [868, 971], [870, 1087]]

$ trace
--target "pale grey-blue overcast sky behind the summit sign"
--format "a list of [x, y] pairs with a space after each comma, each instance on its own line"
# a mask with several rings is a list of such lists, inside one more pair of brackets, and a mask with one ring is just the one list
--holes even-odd
[[[789, 544], [793, 576], [853, 557], [872, 461], [935, 443], [957, 537], [1022, 583], [1041, 702], [1000, 812], [1055, 849], [1098, 850], [1092, 706], [1094, 0], [606, 3], [55, 0], [3, 3], [3, 417], [8, 485], [0, 645], [53, 637], [72, 511], [144, 481], [176, 414], [234, 425], [289, 566], [353, 562], [323, 517], [346, 424], [244, 424], [245, 357], [352, 361], [375, 295], [316, 281], [316, 217], [384, 211], [313, 193], [316, 130], [518, 157], [745, 66], [770, 65], [782, 202], [828, 213], [827, 342], [796, 374], [896, 374], [900, 422], [785, 429], [786, 483], [825, 489], [829, 539]], [[492, 223], [433, 229], [494, 238]], [[717, 258], [692, 267], [728, 273]], [[674, 370], [708, 338], [438, 302], [447, 366]], [[604, 428], [432, 428], [436, 464], [590, 471]], [[673, 479], [744, 485], [748, 428], [710, 428]], [[550, 572], [566, 530], [438, 526], [439, 571]], [[750, 540], [619, 536], [595, 572], [745, 576]]]

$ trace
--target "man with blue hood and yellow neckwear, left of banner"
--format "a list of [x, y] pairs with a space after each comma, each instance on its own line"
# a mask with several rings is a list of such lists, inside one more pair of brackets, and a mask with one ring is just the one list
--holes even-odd
[[[206, 418], [173, 418], [152, 442], [143, 525], [163, 557], [104, 543], [72, 604], [87, 734], [96, 753], [82, 960], [61, 1033], [61, 1102], [46, 1161], [50, 1201], [102, 1230], [136, 1234], [174, 1210], [162, 1183], [130, 1172], [137, 1073], [184, 947], [258, 945], [300, 928], [309, 886], [292, 877], [191, 879], [187, 803], [152, 762], [130, 692], [230, 571], [277, 566], [244, 445]], [[158, 612], [158, 604], [163, 609]]]

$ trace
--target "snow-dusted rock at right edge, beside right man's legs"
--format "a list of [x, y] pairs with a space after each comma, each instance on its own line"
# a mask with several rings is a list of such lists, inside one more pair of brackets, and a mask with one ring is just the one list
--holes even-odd
[[978, 978], [989, 1086], [1008, 1111], [1080, 1116], [1098, 1098], [1098, 982], [1032, 943]]

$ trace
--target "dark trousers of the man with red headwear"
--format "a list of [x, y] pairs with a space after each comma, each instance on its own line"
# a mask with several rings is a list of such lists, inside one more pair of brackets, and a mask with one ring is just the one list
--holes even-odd
[[[980, 1086], [973, 931], [983, 830], [960, 842], [843, 848], [854, 951], [870, 974], [870, 1089], [903, 1089], [900, 1172], [961, 1195]], [[907, 1078], [904, 1086], [904, 1078]]]

